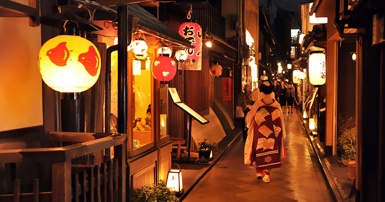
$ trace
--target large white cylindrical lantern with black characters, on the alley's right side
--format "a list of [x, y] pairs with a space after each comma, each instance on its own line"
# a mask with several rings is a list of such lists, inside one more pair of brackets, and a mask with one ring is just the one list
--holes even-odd
[[313, 85], [322, 85], [326, 82], [325, 54], [317, 53], [309, 56], [309, 81]]

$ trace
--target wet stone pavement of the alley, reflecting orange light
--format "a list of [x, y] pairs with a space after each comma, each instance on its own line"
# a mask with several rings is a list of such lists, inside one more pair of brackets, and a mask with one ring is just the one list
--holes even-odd
[[297, 112], [285, 110], [287, 160], [273, 169], [270, 183], [243, 164], [242, 138], [183, 199], [189, 201], [332, 201]]

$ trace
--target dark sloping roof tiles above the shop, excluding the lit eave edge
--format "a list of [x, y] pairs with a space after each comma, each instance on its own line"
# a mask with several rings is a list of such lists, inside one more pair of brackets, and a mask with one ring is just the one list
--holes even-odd
[[140, 26], [143, 26], [147, 29], [160, 33], [161, 35], [164, 35], [166, 37], [165, 39], [173, 39], [172, 41], [178, 42], [183, 45], [191, 46], [191, 43], [188, 40], [186, 40], [181, 35], [176, 33], [166, 24], [158, 20], [155, 16], [153, 16], [148, 11], [143, 9], [140, 5], [138, 4], [128, 5], [128, 14], [134, 17], [138, 17], [139, 18], [138, 24]]

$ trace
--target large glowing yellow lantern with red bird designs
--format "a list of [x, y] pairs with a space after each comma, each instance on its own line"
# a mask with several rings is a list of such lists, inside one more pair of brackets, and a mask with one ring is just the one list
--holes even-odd
[[82, 92], [93, 86], [100, 74], [96, 46], [80, 36], [59, 35], [40, 49], [38, 67], [44, 82], [60, 92]]

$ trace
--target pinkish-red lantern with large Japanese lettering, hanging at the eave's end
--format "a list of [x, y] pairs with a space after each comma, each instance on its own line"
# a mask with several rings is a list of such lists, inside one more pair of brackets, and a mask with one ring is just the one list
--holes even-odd
[[179, 27], [179, 35], [191, 42], [195, 48], [186, 49], [187, 60], [198, 60], [202, 54], [202, 27], [195, 22], [185, 22]]

